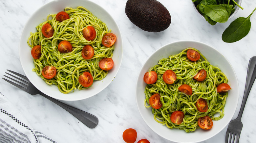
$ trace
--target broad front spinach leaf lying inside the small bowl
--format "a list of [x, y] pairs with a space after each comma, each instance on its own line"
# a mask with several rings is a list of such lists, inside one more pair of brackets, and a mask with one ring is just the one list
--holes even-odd
[[213, 21], [219, 23], [225, 23], [228, 20], [228, 12], [225, 8], [220, 5], [208, 5], [203, 6], [204, 13], [209, 16]]

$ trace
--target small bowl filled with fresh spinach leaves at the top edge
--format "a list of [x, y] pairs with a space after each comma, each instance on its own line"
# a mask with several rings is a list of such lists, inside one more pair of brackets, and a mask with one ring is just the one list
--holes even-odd
[[242, 8], [242, 0], [192, 0], [197, 13], [209, 24], [225, 23]]

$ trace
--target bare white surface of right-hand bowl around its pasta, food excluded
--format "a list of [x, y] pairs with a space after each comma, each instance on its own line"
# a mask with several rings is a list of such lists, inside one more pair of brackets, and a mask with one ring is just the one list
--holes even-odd
[[[199, 50], [206, 59], [214, 66], [218, 66], [227, 76], [228, 84], [232, 88], [228, 91], [228, 97], [225, 104], [225, 115], [220, 120], [213, 120], [213, 127], [210, 130], [196, 129], [194, 132], [186, 133], [184, 130], [169, 129], [166, 125], [162, 125], [155, 121], [152, 114], [152, 108], [146, 108], [144, 106], [145, 100], [145, 87], [146, 83], [143, 80], [144, 74], [154, 65], [158, 64], [161, 58], [168, 57], [180, 53], [182, 50], [188, 47], [193, 47]], [[204, 141], [213, 137], [222, 131], [232, 119], [239, 97], [238, 81], [232, 66], [228, 60], [213, 47], [198, 41], [182, 40], [173, 43], [169, 43], [157, 51], [155, 51], [142, 66], [136, 83], [136, 102], [141, 117], [146, 124], [158, 135], [165, 139], [179, 143], [195, 143]]]

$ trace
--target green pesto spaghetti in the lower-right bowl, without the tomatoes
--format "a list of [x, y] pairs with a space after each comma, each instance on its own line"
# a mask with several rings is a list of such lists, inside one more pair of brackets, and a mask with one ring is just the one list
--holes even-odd
[[[156, 71], [158, 78], [156, 83], [147, 84], [145, 88], [144, 105], [149, 105], [149, 98], [155, 94], [160, 94], [162, 106], [160, 109], [152, 108], [154, 119], [166, 125], [168, 128], [178, 128], [186, 132], [195, 131], [198, 126], [200, 117], [209, 116], [212, 120], [222, 119], [224, 116], [224, 105], [227, 98], [227, 92], [217, 93], [217, 86], [221, 83], [227, 83], [228, 79], [225, 74], [216, 66], [211, 65], [207, 59], [199, 52], [200, 59], [190, 61], [186, 56], [186, 51], [194, 48], [187, 48], [181, 53], [169, 58], [162, 58], [158, 65], [152, 67], [149, 71]], [[204, 81], [197, 81], [193, 77], [198, 71], [204, 69], [207, 73]], [[166, 84], [162, 75], [166, 70], [172, 70], [176, 73], [177, 80], [173, 84]], [[178, 90], [182, 84], [192, 87], [192, 95], [187, 95]], [[207, 102], [208, 110], [206, 112], [198, 111], [196, 102], [203, 98]], [[147, 105], [148, 104], [148, 105]], [[174, 124], [170, 116], [174, 111], [184, 113], [181, 124]]]

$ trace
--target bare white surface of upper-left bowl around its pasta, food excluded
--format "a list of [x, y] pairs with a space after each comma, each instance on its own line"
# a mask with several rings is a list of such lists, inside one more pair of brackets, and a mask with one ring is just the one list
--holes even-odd
[[[41, 77], [32, 71], [34, 64], [33, 58], [31, 56], [31, 48], [28, 46], [27, 40], [30, 36], [30, 32], [36, 32], [35, 27], [38, 24], [46, 21], [46, 18], [49, 14], [57, 14], [59, 11], [63, 11], [63, 9], [66, 7], [76, 8], [77, 6], [83, 6], [87, 8], [102, 22], [106, 23], [108, 29], [111, 29], [112, 33], [117, 36], [117, 42], [115, 43], [115, 50], [112, 57], [114, 60], [114, 67], [109, 71], [103, 80], [95, 81], [90, 88], [83, 90], [76, 89], [68, 94], [63, 94], [58, 90], [56, 85], [47, 85], [41, 79]], [[27, 21], [20, 37], [19, 56], [26, 76], [37, 89], [55, 99], [64, 101], [77, 101], [96, 95], [104, 88], [106, 88], [115, 78], [122, 62], [123, 40], [120, 29], [115, 20], [105, 9], [101, 8], [96, 3], [89, 0], [55, 0], [39, 8]]]

